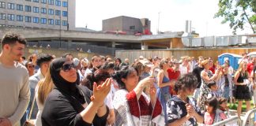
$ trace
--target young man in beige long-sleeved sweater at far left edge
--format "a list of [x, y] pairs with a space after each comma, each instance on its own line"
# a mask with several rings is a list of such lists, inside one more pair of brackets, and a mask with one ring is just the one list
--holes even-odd
[[26, 40], [15, 33], [6, 33], [1, 44], [0, 125], [18, 126], [30, 98], [28, 70], [18, 63], [24, 53]]

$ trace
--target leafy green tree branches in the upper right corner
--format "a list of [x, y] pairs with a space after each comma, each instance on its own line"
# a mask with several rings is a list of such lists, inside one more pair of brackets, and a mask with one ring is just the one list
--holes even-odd
[[229, 23], [233, 34], [244, 24], [249, 24], [253, 33], [256, 33], [256, 0], [219, 0], [219, 10], [214, 18], [224, 17], [222, 24]]

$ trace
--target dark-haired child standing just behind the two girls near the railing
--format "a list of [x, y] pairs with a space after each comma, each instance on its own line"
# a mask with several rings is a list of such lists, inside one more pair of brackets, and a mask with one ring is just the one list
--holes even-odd
[[210, 81], [207, 86], [210, 89], [207, 98], [220, 98], [220, 93], [218, 92], [218, 86], [216, 85], [215, 81]]

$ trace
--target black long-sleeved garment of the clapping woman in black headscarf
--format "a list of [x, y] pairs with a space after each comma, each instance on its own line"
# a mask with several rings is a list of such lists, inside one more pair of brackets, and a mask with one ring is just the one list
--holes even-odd
[[[85, 95], [85, 101], [90, 102], [90, 97], [92, 96], [92, 91], [88, 90], [87, 87], [78, 86], [81, 91]], [[106, 125], [107, 116], [108, 116], [108, 108], [107, 113], [103, 117], [98, 117], [97, 115], [94, 117], [92, 124], [85, 122], [81, 115], [81, 111], [84, 110], [84, 107], [81, 105], [81, 101], [77, 100], [77, 98], [66, 95], [65, 92], [58, 90], [55, 88], [48, 95], [47, 100], [45, 102], [43, 113], [42, 113], [42, 124], [43, 126], [80, 126], [80, 125], [89, 125], [92, 124], [94, 126], [103, 126]]]

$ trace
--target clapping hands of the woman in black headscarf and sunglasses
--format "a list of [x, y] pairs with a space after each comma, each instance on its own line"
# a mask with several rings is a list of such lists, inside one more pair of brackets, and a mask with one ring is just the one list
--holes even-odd
[[97, 106], [104, 105], [104, 99], [107, 97], [108, 92], [111, 89], [112, 79], [107, 78], [105, 82], [99, 86], [93, 83], [93, 95], [91, 97], [92, 102], [95, 102]]

